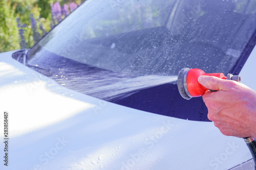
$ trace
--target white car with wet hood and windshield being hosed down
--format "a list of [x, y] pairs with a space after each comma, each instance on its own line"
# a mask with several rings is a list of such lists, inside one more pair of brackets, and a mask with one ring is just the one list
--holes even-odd
[[31, 49], [0, 54], [1, 169], [254, 169], [177, 75], [256, 90], [255, 5], [88, 0]]

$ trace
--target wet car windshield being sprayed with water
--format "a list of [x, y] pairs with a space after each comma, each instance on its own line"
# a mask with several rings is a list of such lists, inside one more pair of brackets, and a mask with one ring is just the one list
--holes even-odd
[[[29, 51], [27, 65], [63, 86], [139, 108], [122, 101], [149, 87], [137, 88], [139, 81], [175, 84], [184, 67], [233, 73], [256, 28], [255, 6], [255, 0], [89, 0]], [[168, 100], [179, 99], [171, 92], [177, 88], [169, 88], [173, 99]], [[162, 108], [164, 115], [173, 111]]]

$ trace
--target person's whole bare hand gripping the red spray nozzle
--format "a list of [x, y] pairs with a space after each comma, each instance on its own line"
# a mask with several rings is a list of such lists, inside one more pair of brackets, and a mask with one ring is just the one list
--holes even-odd
[[256, 138], [256, 92], [246, 85], [214, 76], [200, 76], [209, 90], [203, 95], [208, 118], [222, 134]]

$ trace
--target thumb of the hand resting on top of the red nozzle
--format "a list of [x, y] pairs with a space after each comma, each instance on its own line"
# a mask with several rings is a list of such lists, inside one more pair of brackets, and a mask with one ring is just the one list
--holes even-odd
[[223, 80], [215, 76], [199, 76], [198, 82], [202, 86], [211, 90], [228, 91], [230, 88], [227, 80]]

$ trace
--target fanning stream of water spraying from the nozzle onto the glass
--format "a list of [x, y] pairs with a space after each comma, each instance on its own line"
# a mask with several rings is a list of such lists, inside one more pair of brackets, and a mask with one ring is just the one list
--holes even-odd
[[[39, 69], [42, 74], [49, 74], [47, 69]], [[51, 68], [51, 79], [61, 86], [79, 91], [95, 98], [113, 101], [125, 98], [139, 90], [166, 83], [175, 83], [177, 76], [131, 76], [109, 70], [87, 67]]]

